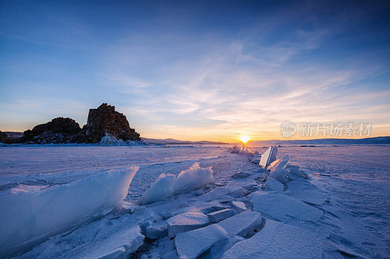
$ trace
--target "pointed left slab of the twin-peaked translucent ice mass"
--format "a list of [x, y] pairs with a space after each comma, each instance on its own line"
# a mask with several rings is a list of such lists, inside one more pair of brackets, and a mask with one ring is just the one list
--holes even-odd
[[156, 201], [166, 200], [168, 197], [172, 196], [175, 182], [176, 175], [161, 173], [156, 182], [145, 191], [138, 203], [140, 205], [145, 205]]

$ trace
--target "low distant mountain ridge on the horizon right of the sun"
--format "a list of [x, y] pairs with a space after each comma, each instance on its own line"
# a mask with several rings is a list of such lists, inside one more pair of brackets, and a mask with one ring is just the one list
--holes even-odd
[[256, 140], [251, 144], [274, 145], [274, 144], [296, 144], [296, 145], [341, 145], [341, 144], [390, 144], [390, 137], [375, 138], [318, 138], [306, 140]]

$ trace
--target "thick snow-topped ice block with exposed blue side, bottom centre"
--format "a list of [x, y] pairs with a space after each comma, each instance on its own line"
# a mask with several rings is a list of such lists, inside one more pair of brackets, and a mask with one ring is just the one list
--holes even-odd
[[210, 224], [209, 217], [200, 212], [178, 214], [167, 220], [168, 235], [175, 237], [177, 233], [187, 232]]

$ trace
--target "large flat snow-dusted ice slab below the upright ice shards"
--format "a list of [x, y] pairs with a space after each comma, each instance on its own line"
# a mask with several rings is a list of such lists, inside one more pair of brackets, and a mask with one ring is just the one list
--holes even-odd
[[294, 223], [297, 221], [318, 221], [324, 213], [306, 203], [279, 192], [254, 192], [251, 194], [253, 210], [266, 218]]

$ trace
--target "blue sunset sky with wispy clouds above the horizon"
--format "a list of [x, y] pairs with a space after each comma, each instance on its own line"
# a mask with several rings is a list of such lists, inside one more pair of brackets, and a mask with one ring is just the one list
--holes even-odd
[[300, 136], [302, 123], [390, 136], [389, 13], [389, 1], [0, 0], [0, 130], [82, 127], [108, 103], [145, 138], [330, 137]]

